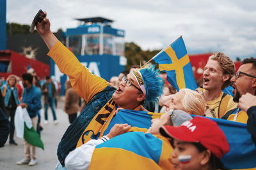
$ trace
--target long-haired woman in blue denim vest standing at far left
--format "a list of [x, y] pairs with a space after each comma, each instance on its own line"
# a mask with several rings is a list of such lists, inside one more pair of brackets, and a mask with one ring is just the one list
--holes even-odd
[[18, 99], [18, 89], [15, 87], [17, 83], [17, 78], [15, 75], [11, 74], [7, 78], [7, 83], [2, 87], [2, 95], [4, 97], [4, 106], [6, 108], [6, 116], [9, 118], [10, 117], [10, 145], [15, 145], [17, 146], [17, 143], [14, 141], [13, 136], [14, 136], [14, 116], [15, 116], [15, 111], [17, 108], [17, 104], [19, 104], [19, 99]]

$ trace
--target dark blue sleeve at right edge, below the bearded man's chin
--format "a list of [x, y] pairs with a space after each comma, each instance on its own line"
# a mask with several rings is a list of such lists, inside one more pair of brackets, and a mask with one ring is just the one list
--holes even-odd
[[252, 106], [247, 110], [247, 131], [252, 134], [252, 139], [256, 145], [256, 106]]

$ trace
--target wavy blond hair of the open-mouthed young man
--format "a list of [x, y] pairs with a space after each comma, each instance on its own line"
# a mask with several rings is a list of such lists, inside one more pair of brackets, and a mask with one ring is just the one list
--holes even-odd
[[222, 69], [222, 73], [223, 74], [229, 74], [229, 78], [228, 80], [226, 80], [221, 89], [225, 89], [226, 87], [228, 87], [228, 85], [230, 85], [230, 80], [232, 78], [232, 76], [234, 76], [234, 74], [236, 74], [236, 67], [234, 62], [230, 59], [230, 57], [228, 57], [227, 55], [225, 55], [224, 53], [221, 52], [216, 52], [213, 55], [211, 55], [209, 57], [209, 60], [216, 60], [220, 63], [220, 67]]

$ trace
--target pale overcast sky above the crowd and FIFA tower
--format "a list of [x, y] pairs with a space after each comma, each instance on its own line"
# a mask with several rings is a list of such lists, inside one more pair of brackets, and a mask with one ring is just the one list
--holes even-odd
[[256, 57], [256, 1], [6, 0], [7, 22], [31, 24], [47, 11], [52, 31], [76, 27], [74, 18], [106, 17], [143, 50], [164, 48], [180, 35], [188, 52]]

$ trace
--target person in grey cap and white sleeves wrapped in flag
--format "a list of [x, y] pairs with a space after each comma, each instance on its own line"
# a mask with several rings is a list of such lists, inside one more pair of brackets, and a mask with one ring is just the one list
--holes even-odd
[[[76, 150], [70, 152], [65, 159], [65, 166], [67, 169], [93, 169], [93, 167], [102, 169], [108, 168], [108, 166], [105, 166], [105, 164], [108, 164], [109, 159], [112, 159], [110, 161], [111, 169], [129, 169], [131, 167], [132, 169], [158, 169], [159, 167], [161, 167], [161, 169], [173, 169], [170, 162], [172, 146], [167, 139], [163, 138], [163, 136], [159, 134], [159, 127], [161, 125], [179, 126], [187, 120], [191, 120], [191, 118], [192, 117], [184, 111], [170, 110], [161, 115], [160, 118], [153, 119], [151, 127], [145, 133], [131, 132], [138, 131], [138, 128], [131, 127], [128, 124], [115, 124], [115, 126], [112, 127], [111, 131], [106, 136], [103, 136], [97, 140], [92, 139], [79, 148], [76, 148]], [[123, 134], [125, 132], [127, 133]], [[161, 143], [157, 143], [160, 140]], [[104, 160], [101, 160], [102, 163], [100, 165], [97, 164], [95, 166], [95, 163], [97, 162], [97, 156], [95, 156], [97, 155], [97, 148], [95, 149], [95, 147], [108, 147], [109, 145], [116, 147], [116, 149], [114, 148], [115, 150], [113, 153], [109, 150], [105, 152], [98, 152], [100, 153], [100, 157], [104, 157]], [[148, 145], [150, 148], [147, 148]], [[150, 153], [150, 150], [154, 150], [155, 156], [159, 151], [157, 148], [161, 148], [163, 153], [161, 154], [159, 162], [151, 161], [148, 162], [148, 164], [145, 164], [145, 159], [140, 159], [140, 157], [136, 159], [135, 153], [134, 155], [131, 155], [133, 150], [130, 150], [129, 153], [123, 152], [123, 150], [118, 150], [118, 148], [120, 148], [119, 146], [122, 146], [122, 148], [134, 147], [136, 148], [135, 152], [138, 153]], [[121, 158], [124, 160], [129, 159], [129, 161], [121, 160]]]

